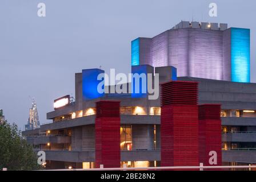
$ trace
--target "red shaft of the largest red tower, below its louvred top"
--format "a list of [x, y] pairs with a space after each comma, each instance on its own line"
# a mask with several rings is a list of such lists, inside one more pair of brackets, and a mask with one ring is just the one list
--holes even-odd
[[199, 166], [197, 105], [161, 107], [161, 166]]

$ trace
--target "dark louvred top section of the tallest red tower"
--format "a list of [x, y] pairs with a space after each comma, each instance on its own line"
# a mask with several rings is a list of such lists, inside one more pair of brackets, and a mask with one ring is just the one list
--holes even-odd
[[161, 84], [161, 105], [197, 105], [198, 82], [170, 81]]

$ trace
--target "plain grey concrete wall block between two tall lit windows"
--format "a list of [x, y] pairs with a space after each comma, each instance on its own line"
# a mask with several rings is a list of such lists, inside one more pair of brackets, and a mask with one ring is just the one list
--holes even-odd
[[154, 149], [154, 125], [132, 126], [133, 150]]

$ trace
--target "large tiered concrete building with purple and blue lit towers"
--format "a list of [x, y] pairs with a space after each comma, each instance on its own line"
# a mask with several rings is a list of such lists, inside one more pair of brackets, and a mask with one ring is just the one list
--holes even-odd
[[[184, 41], [175, 40], [177, 43], [183, 43], [184, 46], [191, 43], [195, 44], [190, 48], [187, 45], [187, 49], [181, 50], [179, 49], [181, 45], [176, 47], [181, 51], [175, 53], [178, 57], [171, 54], [173, 53], [172, 49], [168, 49], [168, 53], [158, 54], [157, 52], [162, 49], [159, 48], [161, 46], [158, 48], [152, 46], [154, 38], [145, 39], [145, 41], [148, 41], [145, 44], [142, 43], [143, 38], [136, 39], [135, 42], [139, 40], [139, 43], [137, 43], [139, 48], [135, 48], [133, 41], [131, 72], [152, 73], [153, 75], [158, 73], [160, 83], [171, 80], [198, 82], [198, 104], [221, 105], [222, 164], [231, 166], [256, 164], [256, 139], [254, 137], [256, 134], [256, 84], [249, 83], [247, 71], [250, 75], [250, 69], [247, 69], [247, 66], [248, 61], [250, 66], [250, 59], [246, 55], [247, 52], [243, 53], [243, 49], [247, 50], [248, 45], [240, 44], [241, 48], [239, 50], [241, 51], [238, 51], [240, 59], [237, 60], [234, 58], [234, 55], [237, 54], [235, 53], [236, 50], [232, 48], [237, 45], [237, 42], [240, 42], [234, 38], [236, 29], [233, 32], [233, 30], [227, 29], [226, 24], [221, 24], [220, 27], [217, 24], [208, 26], [209, 24], [204, 23], [182, 22], [162, 34], [162, 36], [169, 37], [168, 40], [170, 40], [171, 37], [173, 39], [179, 37], [171, 35], [171, 32], [178, 35], [181, 32], [186, 32], [187, 36], [191, 38], [189, 43], [187, 39]], [[233, 42], [230, 40], [231, 43], [224, 41], [224, 44], [228, 44], [226, 45], [226, 47], [229, 47], [227, 48], [229, 50], [227, 55], [231, 55], [231, 58], [230, 56], [225, 57], [225, 54], [223, 54], [223, 35], [225, 32], [230, 34], [230, 39], [233, 39]], [[207, 36], [201, 39], [199, 36], [201, 33], [207, 34]], [[215, 39], [216, 36], [219, 37], [218, 46], [213, 48], [212, 51], [208, 48], [206, 54], [201, 54], [201, 48], [198, 47], [197, 40], [199, 39], [199, 42], [210, 45], [207, 42], [212, 38]], [[246, 34], [246, 40], [247, 36]], [[163, 41], [165, 40], [163, 39]], [[162, 39], [161, 41], [155, 41], [162, 44]], [[167, 48], [173, 46], [173, 44], [165, 45], [168, 45]], [[207, 45], [203, 47], [205, 46], [207, 47]], [[165, 49], [166, 47], [162, 46], [162, 48]], [[137, 49], [137, 51], [134, 51], [134, 49]], [[145, 52], [145, 49], [148, 52]], [[153, 49], [156, 52], [152, 51]], [[134, 52], [139, 52], [139, 54], [134, 55]], [[195, 63], [197, 57], [193, 56], [182, 60], [182, 57], [179, 56], [185, 53], [199, 56], [202, 61], [206, 62], [205, 65], [202, 65], [203, 62]], [[169, 55], [169, 57], [166, 58], [166, 55]], [[243, 59], [245, 58], [244, 55], [246, 59]], [[134, 56], [139, 59], [138, 63], [134, 60]], [[217, 61], [216, 64], [214, 64], [214, 61]], [[240, 61], [241, 64], [237, 65], [235, 64], [237, 62], [234, 61]], [[246, 65], [246, 73], [244, 71], [242, 71], [243, 73], [237, 72], [244, 64]], [[198, 67], [193, 66], [193, 68], [189, 65], [198, 65]], [[226, 65], [228, 68], [226, 68]], [[172, 66], [176, 66], [177, 71]], [[208, 66], [209, 68], [206, 68]], [[212, 72], [210, 68], [213, 68]], [[188, 71], [185, 71], [185, 69]], [[210, 75], [207, 75], [209, 72]], [[121, 167], [123, 164], [128, 167], [161, 166], [160, 98], [149, 100], [142, 93], [98, 93], [97, 85], [100, 84], [100, 81], [97, 80], [97, 76], [101, 73], [104, 73], [101, 69], [83, 69], [81, 73], [75, 73], [75, 102], [71, 102], [69, 96], [58, 98], [54, 101], [54, 110], [47, 113], [47, 119], [51, 119], [52, 122], [41, 125], [40, 129], [23, 131], [22, 134], [27, 137], [27, 141], [33, 144], [36, 150], [46, 152], [46, 167], [49, 169], [97, 167], [95, 162], [98, 164], [97, 161], [104, 156], [98, 155], [99, 153], [103, 154], [103, 149], [98, 149], [99, 144], [102, 145], [103, 141], [101, 140], [99, 143], [99, 138], [108, 141], [106, 144], [108, 143], [109, 146], [104, 149], [105, 156], [108, 159], [113, 157], [109, 155], [111, 144], [116, 147], [117, 142], [119, 143], [120, 156], [118, 156], [118, 160], [120, 159]], [[176, 77], [176, 73], [178, 77]], [[235, 76], [232, 76], [233, 73]], [[129, 88], [129, 85], [127, 84], [127, 88]], [[111, 86], [102, 86], [105, 90], [111, 90]], [[147, 95], [148, 93], [146, 93]], [[106, 128], [103, 128], [104, 123], [101, 123], [100, 126], [97, 123], [99, 122], [98, 114], [103, 113], [99, 109], [98, 103], [103, 101], [118, 101], [120, 104], [120, 115], [117, 116], [119, 118], [117, 122], [120, 126], [118, 127], [120, 137], [115, 140], [115, 143], [111, 143], [113, 142], [110, 135], [111, 128], [107, 125], [104, 125]], [[111, 113], [111, 109], [107, 112]], [[186, 114], [186, 111], [183, 110], [182, 112]], [[105, 119], [101, 122], [107, 121], [106, 117], [111, 117], [111, 115], [105, 115]], [[111, 132], [102, 135], [101, 130], [106, 132], [105, 129]], [[113, 135], [114, 133], [117, 134], [116, 131], [115, 125], [113, 126]]]

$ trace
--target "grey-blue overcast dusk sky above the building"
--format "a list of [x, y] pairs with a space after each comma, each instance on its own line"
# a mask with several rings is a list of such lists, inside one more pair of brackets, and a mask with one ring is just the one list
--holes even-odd
[[[46, 17], [37, 5], [46, 5]], [[209, 4], [218, 5], [211, 18]], [[152, 37], [183, 20], [229, 23], [251, 29], [255, 73], [255, 0], [1, 0], [0, 109], [23, 130], [31, 99], [41, 123], [55, 98], [73, 94], [74, 73], [99, 68], [130, 71], [130, 42]]]

